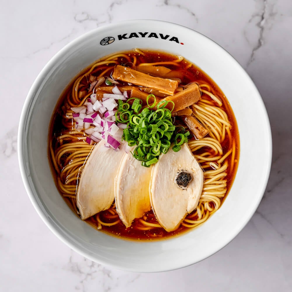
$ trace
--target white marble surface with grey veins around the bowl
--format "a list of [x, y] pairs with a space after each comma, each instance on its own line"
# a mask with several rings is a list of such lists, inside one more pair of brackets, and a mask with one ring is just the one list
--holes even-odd
[[[137, 18], [190, 27], [229, 51], [258, 87], [273, 135], [270, 179], [246, 227], [210, 258], [156, 274], [103, 267], [55, 237], [28, 199], [16, 146], [22, 105], [48, 60], [90, 29]], [[292, 291], [290, 0], [1, 1], [0, 23], [0, 291]]]

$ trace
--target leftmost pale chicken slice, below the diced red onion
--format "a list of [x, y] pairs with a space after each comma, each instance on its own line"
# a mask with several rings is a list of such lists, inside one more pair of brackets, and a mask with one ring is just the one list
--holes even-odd
[[107, 210], [112, 205], [114, 178], [124, 153], [106, 148], [104, 141], [94, 146], [77, 186], [76, 203], [81, 219]]

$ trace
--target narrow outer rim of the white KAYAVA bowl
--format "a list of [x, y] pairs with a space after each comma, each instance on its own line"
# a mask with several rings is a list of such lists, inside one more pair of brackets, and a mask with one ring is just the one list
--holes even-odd
[[262, 180], [262, 188], [261, 188], [261, 193], [258, 194], [258, 200], [256, 202], [256, 204], [254, 204], [253, 209], [250, 213], [248, 213], [246, 215], [245, 220], [243, 220], [242, 224], [233, 231], [233, 233], [230, 235], [230, 237], [225, 238], [224, 243], [221, 244], [220, 246], [217, 246], [212, 253], [210, 253], [208, 256], [205, 256], [204, 258], [199, 259], [197, 262], [200, 262], [201, 260], [204, 260], [205, 258], [208, 258], [209, 256], [215, 254], [216, 252], [218, 252], [219, 250], [221, 250], [223, 247], [225, 247], [228, 243], [230, 243], [236, 236], [237, 234], [239, 234], [239, 232], [245, 227], [245, 225], [248, 223], [248, 221], [251, 219], [251, 217], [254, 215], [256, 209], [258, 208], [260, 201], [263, 197], [263, 194], [265, 192], [266, 186], [267, 186], [267, 182], [269, 179], [269, 175], [270, 175], [270, 169], [271, 169], [271, 164], [272, 164], [272, 133], [271, 133], [271, 127], [270, 127], [270, 121], [269, 121], [269, 117], [267, 114], [267, 110], [265, 108], [263, 99], [256, 87], [256, 85], [254, 84], [253, 80], [251, 79], [251, 77], [248, 75], [248, 73], [245, 71], [245, 69], [243, 67], [241, 67], [241, 65], [239, 64], [239, 62], [237, 62], [237, 60], [229, 53], [227, 52], [222, 46], [220, 46], [219, 44], [217, 44], [215, 41], [213, 41], [212, 39], [208, 38], [207, 36], [205, 36], [204, 34], [197, 32], [193, 29], [190, 29], [188, 27], [185, 27], [183, 25], [180, 24], [176, 24], [173, 22], [167, 22], [167, 21], [161, 21], [161, 20], [150, 20], [150, 19], [137, 19], [137, 20], [124, 20], [124, 21], [119, 21], [119, 22], [114, 22], [111, 24], [107, 24], [107, 25], [103, 25], [101, 27], [92, 29], [84, 34], [81, 34], [80, 36], [78, 36], [77, 38], [75, 38], [74, 40], [70, 41], [67, 45], [65, 45], [63, 48], [61, 48], [61, 50], [59, 50], [47, 63], [46, 65], [43, 67], [43, 69], [41, 70], [41, 72], [38, 74], [38, 76], [36, 77], [36, 79], [34, 80], [28, 94], [27, 97], [25, 98], [25, 102], [22, 108], [22, 112], [20, 115], [20, 121], [19, 121], [19, 127], [18, 127], [18, 161], [19, 161], [19, 168], [20, 168], [20, 173], [21, 173], [21, 177], [22, 177], [22, 181], [24, 183], [25, 186], [25, 190], [28, 194], [28, 197], [30, 199], [30, 201], [32, 202], [32, 205], [34, 206], [36, 212], [39, 214], [39, 216], [41, 217], [41, 219], [44, 221], [44, 223], [48, 226], [48, 228], [61, 240], [63, 241], [65, 244], [67, 244], [67, 246], [69, 246], [72, 250], [76, 251], [77, 253], [81, 254], [82, 256], [94, 261], [94, 262], [98, 262], [104, 266], [107, 267], [113, 267], [119, 270], [127, 270], [127, 271], [131, 271], [131, 272], [162, 272], [162, 271], [169, 271], [169, 270], [174, 270], [174, 269], [179, 269], [182, 267], [187, 267], [189, 265], [194, 264], [194, 261], [190, 259], [186, 259], [185, 260], [185, 264], [183, 265], [177, 265], [174, 264], [173, 266], [169, 266], [168, 268], [165, 269], [157, 269], [155, 267], [153, 267], [152, 270], [149, 269], [144, 269], [141, 267], [140, 270], [138, 271], [136, 267], [131, 267], [131, 268], [124, 268], [122, 265], [119, 264], [109, 264], [107, 263], [105, 260], [102, 260], [100, 258], [96, 258], [94, 257], [92, 254], [87, 253], [86, 251], [84, 251], [82, 248], [79, 248], [76, 244], [74, 244], [74, 241], [69, 238], [69, 236], [67, 234], [65, 234], [63, 232], [63, 230], [60, 228], [60, 226], [58, 226], [53, 220], [49, 220], [49, 218], [47, 217], [47, 215], [44, 213], [44, 211], [42, 210], [42, 208], [39, 206], [39, 202], [36, 199], [36, 196], [34, 195], [34, 190], [32, 189], [32, 187], [30, 186], [29, 180], [28, 180], [28, 174], [25, 168], [25, 157], [24, 157], [24, 153], [23, 153], [23, 140], [25, 139], [25, 124], [27, 122], [26, 117], [27, 117], [27, 112], [29, 110], [29, 107], [31, 106], [31, 103], [33, 102], [33, 93], [38, 89], [39, 84], [41, 83], [41, 81], [44, 79], [44, 76], [46, 76], [46, 73], [50, 71], [50, 69], [53, 67], [54, 63], [56, 60], [58, 60], [58, 58], [67, 50], [69, 50], [70, 48], [72, 48], [73, 46], [75, 46], [76, 44], [80, 43], [83, 39], [87, 39], [88, 37], [90, 37], [91, 35], [94, 35], [97, 32], [102, 32], [105, 30], [109, 30], [111, 27], [117, 27], [117, 25], [119, 24], [123, 24], [123, 25], [134, 25], [135, 23], [157, 23], [157, 25], [159, 24], [166, 24], [166, 25], [176, 25], [178, 27], [183, 27], [184, 29], [189, 30], [192, 34], [199, 34], [205, 38], [207, 38], [208, 40], [210, 40], [211, 42], [214, 43], [215, 46], [220, 47], [221, 49], [223, 49], [228, 55], [230, 55], [230, 57], [233, 59], [234, 64], [237, 65], [237, 69], [241, 70], [241, 72], [246, 76], [247, 79], [249, 79], [250, 81], [250, 85], [252, 86], [252, 90], [253, 92], [257, 95], [259, 102], [260, 102], [260, 106], [263, 109], [263, 115], [265, 118], [265, 125], [267, 126], [266, 130], [267, 130], [267, 140], [268, 140], [268, 145], [266, 145], [267, 147], [267, 168], [264, 170], [264, 177]]

